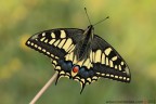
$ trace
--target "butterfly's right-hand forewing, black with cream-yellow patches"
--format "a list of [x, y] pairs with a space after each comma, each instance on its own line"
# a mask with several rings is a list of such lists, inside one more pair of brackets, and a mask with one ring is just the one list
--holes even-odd
[[131, 75], [127, 63], [109, 43], [94, 35], [91, 48], [93, 70], [99, 77], [130, 82]]

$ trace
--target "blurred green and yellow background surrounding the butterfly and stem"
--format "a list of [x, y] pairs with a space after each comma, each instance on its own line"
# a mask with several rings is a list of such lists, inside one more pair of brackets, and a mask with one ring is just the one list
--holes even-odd
[[155, 0], [1, 0], [0, 104], [28, 104], [54, 74], [49, 57], [25, 46], [28, 37], [51, 28], [87, 28], [84, 6], [92, 23], [110, 17], [95, 34], [126, 60], [131, 82], [100, 79], [80, 95], [79, 82], [62, 78], [37, 104], [156, 100]]

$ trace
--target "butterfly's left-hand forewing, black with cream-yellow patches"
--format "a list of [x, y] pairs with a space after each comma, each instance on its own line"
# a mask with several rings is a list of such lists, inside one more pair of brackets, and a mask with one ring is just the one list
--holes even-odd
[[[77, 32], [77, 34], [75, 34]], [[75, 46], [82, 35], [81, 29], [51, 29], [31, 36], [26, 46], [52, 58], [62, 58], [72, 46]]]

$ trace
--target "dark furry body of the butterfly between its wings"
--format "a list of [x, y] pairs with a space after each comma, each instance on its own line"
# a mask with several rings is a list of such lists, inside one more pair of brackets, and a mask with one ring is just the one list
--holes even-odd
[[78, 61], [81, 61], [83, 58], [88, 57], [88, 54], [91, 51], [91, 41], [93, 39], [93, 26], [90, 25], [88, 28], [84, 30], [81, 39], [77, 43], [75, 48], [75, 55], [77, 56]]

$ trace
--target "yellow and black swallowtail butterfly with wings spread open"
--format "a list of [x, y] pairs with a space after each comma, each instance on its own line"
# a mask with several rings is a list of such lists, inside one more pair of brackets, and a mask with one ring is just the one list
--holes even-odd
[[[104, 39], [94, 34], [93, 25], [87, 29], [56, 28], [31, 36], [26, 46], [52, 58], [52, 65], [61, 77], [86, 84], [99, 78], [130, 82], [127, 63]], [[55, 83], [56, 83], [55, 82]]]

